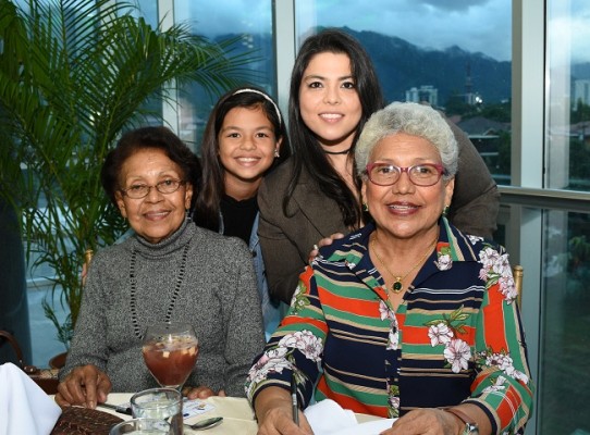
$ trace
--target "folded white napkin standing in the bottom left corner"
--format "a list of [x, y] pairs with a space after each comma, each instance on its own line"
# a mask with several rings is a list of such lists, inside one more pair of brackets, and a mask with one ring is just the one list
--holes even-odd
[[48, 435], [61, 409], [11, 362], [0, 365], [0, 435]]

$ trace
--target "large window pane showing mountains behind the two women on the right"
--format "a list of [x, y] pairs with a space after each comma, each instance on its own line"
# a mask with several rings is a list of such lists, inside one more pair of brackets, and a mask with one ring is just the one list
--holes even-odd
[[346, 27], [374, 62], [391, 101], [428, 101], [471, 138], [499, 184], [509, 184], [512, 2], [296, 2], [298, 42]]

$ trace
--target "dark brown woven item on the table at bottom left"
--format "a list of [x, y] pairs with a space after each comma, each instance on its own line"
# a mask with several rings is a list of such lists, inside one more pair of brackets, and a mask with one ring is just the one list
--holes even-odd
[[123, 419], [108, 412], [82, 407], [64, 408], [51, 435], [109, 435]]

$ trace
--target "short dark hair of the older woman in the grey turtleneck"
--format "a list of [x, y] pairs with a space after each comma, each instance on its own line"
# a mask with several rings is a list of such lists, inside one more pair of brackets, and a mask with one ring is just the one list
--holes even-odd
[[116, 206], [115, 192], [123, 187], [119, 185], [121, 167], [130, 157], [145, 149], [162, 150], [181, 167], [183, 179], [193, 186], [190, 201], [193, 206], [201, 182], [199, 159], [179, 136], [163, 126], [140, 127], [126, 132], [119, 139], [116, 147], [107, 154], [100, 170], [100, 182], [111, 202]]

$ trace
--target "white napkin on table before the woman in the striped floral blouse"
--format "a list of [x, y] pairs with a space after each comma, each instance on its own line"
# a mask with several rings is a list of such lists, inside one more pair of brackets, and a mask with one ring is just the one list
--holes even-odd
[[305, 411], [316, 435], [377, 435], [390, 428], [394, 419], [378, 419], [359, 424], [355, 413], [331, 399], [321, 400]]

